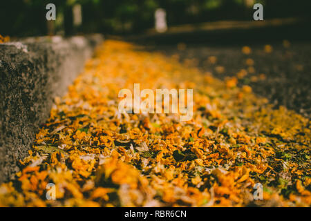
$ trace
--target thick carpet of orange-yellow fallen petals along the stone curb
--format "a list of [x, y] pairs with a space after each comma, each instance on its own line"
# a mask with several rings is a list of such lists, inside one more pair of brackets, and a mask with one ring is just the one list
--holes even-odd
[[[310, 206], [310, 120], [235, 79], [107, 40], [55, 99], [0, 206]], [[119, 113], [118, 92], [193, 88], [194, 117]], [[56, 200], [47, 200], [47, 184]], [[254, 200], [255, 184], [263, 200]]]

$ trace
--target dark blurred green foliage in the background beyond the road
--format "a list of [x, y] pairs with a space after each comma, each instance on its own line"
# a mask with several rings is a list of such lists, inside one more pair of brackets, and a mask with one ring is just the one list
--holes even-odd
[[[46, 5], [54, 3], [57, 19], [47, 25]], [[249, 21], [254, 3], [264, 6], [264, 18], [310, 19], [308, 0], [10, 0], [0, 3], [0, 34], [37, 36], [102, 32], [129, 35], [150, 30], [155, 12], [163, 8], [167, 26], [210, 21]], [[74, 23], [74, 15], [82, 21]]]

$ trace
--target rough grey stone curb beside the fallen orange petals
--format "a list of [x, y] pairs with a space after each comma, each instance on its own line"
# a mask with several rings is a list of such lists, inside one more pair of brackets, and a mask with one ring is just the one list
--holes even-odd
[[0, 182], [19, 171], [53, 99], [82, 70], [101, 35], [41, 37], [0, 44]]

